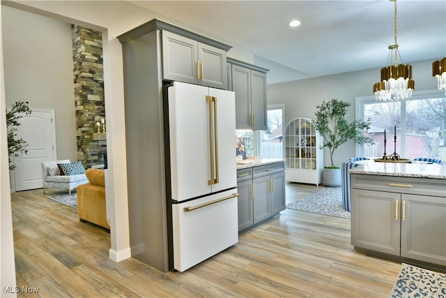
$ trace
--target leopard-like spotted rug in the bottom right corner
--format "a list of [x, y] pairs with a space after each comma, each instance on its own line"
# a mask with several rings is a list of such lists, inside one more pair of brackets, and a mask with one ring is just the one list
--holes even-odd
[[403, 263], [390, 297], [446, 297], [446, 274]]

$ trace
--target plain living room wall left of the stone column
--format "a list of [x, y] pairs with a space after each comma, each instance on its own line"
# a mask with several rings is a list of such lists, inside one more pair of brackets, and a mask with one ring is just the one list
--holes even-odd
[[57, 158], [77, 161], [71, 25], [2, 6], [6, 106], [54, 109]]

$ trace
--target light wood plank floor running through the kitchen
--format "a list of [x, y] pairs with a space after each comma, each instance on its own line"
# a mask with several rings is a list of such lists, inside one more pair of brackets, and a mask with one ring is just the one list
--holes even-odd
[[[287, 184], [287, 202], [316, 191]], [[352, 251], [350, 220], [286, 209], [179, 273], [108, 258], [110, 234], [42, 190], [13, 193], [18, 297], [389, 297], [400, 262]]]

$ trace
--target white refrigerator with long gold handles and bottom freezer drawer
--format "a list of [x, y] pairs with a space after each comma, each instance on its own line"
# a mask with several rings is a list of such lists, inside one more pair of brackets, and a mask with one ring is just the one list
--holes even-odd
[[238, 242], [235, 96], [182, 82], [167, 90], [173, 263], [185, 271]]

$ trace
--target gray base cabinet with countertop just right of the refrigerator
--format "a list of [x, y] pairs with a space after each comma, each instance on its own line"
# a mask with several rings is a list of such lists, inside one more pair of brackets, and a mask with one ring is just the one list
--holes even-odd
[[248, 158], [237, 163], [238, 232], [245, 232], [285, 209], [285, 163]]

